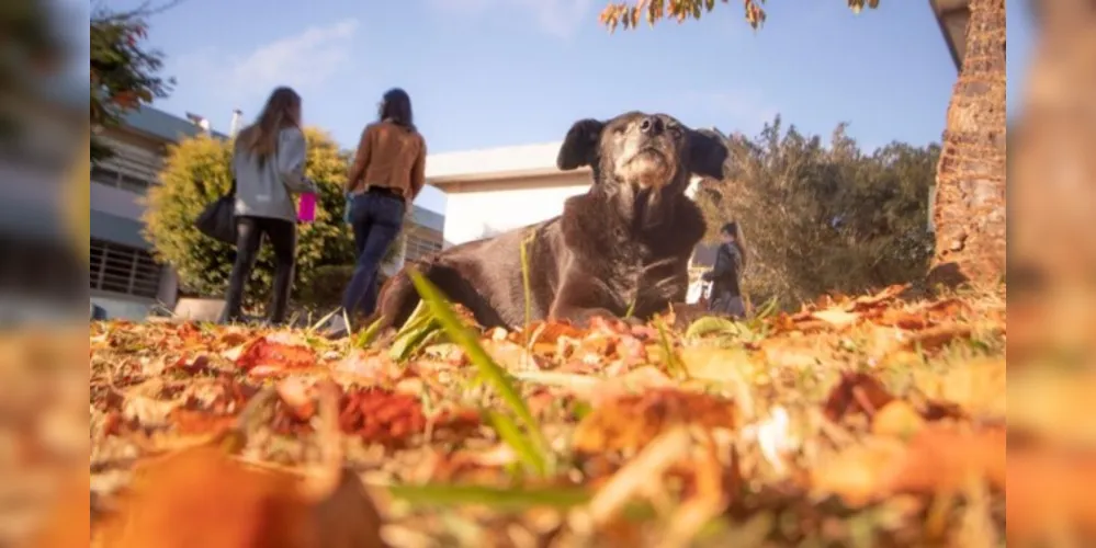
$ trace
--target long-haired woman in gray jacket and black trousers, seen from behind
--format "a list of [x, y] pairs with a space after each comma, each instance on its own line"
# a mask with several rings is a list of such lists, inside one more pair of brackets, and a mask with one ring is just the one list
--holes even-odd
[[222, 321], [239, 321], [244, 287], [265, 235], [274, 248], [274, 285], [267, 308], [271, 323], [289, 311], [296, 252], [294, 194], [317, 192], [305, 174], [307, 161], [301, 129], [301, 95], [290, 88], [270, 94], [259, 118], [236, 137], [236, 262], [228, 278]]

